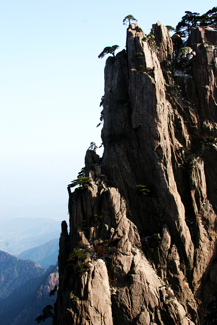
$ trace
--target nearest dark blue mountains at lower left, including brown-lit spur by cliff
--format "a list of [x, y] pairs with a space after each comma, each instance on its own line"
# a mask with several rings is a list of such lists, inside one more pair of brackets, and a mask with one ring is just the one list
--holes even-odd
[[42, 309], [56, 300], [56, 295], [49, 296], [56, 284], [57, 266], [46, 271], [36, 262], [0, 250], [0, 325], [35, 325]]

